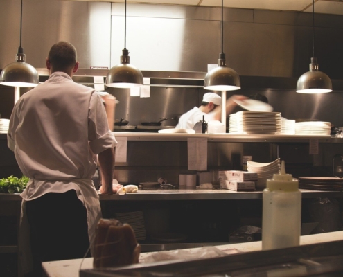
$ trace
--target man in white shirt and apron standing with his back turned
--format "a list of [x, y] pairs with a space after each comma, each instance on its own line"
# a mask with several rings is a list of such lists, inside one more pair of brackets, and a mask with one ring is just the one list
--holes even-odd
[[100, 192], [113, 193], [117, 142], [100, 96], [73, 82], [78, 64], [72, 44], [54, 44], [46, 58], [49, 79], [21, 96], [10, 118], [8, 147], [30, 178], [19, 229], [26, 276], [42, 276], [42, 262], [83, 258], [89, 245], [93, 250], [101, 217], [91, 181], [98, 160]]

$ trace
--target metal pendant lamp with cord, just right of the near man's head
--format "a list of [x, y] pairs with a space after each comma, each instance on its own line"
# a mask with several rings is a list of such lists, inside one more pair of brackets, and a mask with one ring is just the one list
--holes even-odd
[[143, 85], [143, 74], [130, 64], [129, 51], [126, 49], [126, 0], [125, 0], [125, 37], [121, 63], [109, 69], [106, 78], [107, 87], [130, 88]]

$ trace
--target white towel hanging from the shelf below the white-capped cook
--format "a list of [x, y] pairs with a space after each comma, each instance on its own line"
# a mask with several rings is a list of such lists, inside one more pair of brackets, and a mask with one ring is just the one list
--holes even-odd
[[188, 170], [207, 170], [207, 138], [188, 138]]

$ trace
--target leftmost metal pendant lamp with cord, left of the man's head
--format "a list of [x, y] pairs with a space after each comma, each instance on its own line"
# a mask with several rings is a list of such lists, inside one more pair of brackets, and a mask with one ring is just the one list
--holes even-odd
[[24, 48], [21, 47], [21, 26], [23, 20], [23, 0], [20, 10], [20, 46], [18, 48], [16, 62], [12, 62], [3, 68], [0, 74], [0, 84], [11, 87], [35, 87], [39, 83], [37, 70], [26, 63]]

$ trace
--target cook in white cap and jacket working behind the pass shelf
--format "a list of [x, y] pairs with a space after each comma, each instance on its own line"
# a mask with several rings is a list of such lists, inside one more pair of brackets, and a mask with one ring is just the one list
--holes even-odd
[[[245, 96], [234, 95], [227, 99], [226, 102], [226, 112], [230, 114], [234, 107], [237, 105], [234, 100], [244, 100], [247, 99]], [[218, 94], [213, 92], [207, 92], [202, 98], [202, 103], [200, 107], [194, 107], [190, 111], [187, 111], [186, 114], [182, 114], [179, 118], [179, 123], [175, 128], [177, 129], [193, 129], [194, 125], [199, 121], [204, 120], [208, 123], [213, 120], [220, 120], [221, 118], [221, 105], [222, 98]]]

